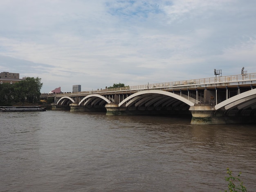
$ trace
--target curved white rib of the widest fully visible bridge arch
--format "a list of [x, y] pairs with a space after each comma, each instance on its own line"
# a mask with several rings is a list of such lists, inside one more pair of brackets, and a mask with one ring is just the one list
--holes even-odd
[[[177, 100], [180, 100], [182, 101], [183, 103], [186, 103], [187, 105], [189, 106], [194, 106], [195, 103], [191, 102], [190, 100], [180, 96], [180, 95], [177, 95], [177, 94], [174, 94], [174, 93], [171, 93], [171, 92], [166, 92], [166, 91], [161, 91], [161, 90], [145, 90], [145, 91], [141, 91], [141, 92], [137, 92], [135, 94], [132, 94], [130, 96], [128, 96], [126, 99], [124, 99], [121, 103], [119, 103], [119, 107], [121, 107], [122, 105], [124, 105], [127, 101], [129, 101], [127, 104], [126, 104], [126, 107], [131, 105], [131, 103], [134, 103], [135, 100], [137, 100], [138, 98], [140, 98], [141, 95], [144, 95], [144, 94], [160, 94], [160, 95], [165, 95], [165, 96], [170, 96], [172, 98], [175, 98]], [[134, 98], [134, 99], [133, 99]]]

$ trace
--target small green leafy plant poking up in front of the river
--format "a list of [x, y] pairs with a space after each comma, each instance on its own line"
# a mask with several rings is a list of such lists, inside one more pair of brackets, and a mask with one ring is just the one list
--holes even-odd
[[[228, 177], [226, 178], [226, 181], [229, 182], [229, 192], [247, 192], [247, 189], [245, 188], [245, 185], [243, 185], [243, 181], [241, 181], [239, 179], [239, 176], [241, 174], [241, 172], [239, 172], [237, 177], [232, 176], [232, 171], [229, 170], [229, 168], [227, 168], [227, 174], [229, 174]], [[239, 182], [239, 185], [236, 185], [236, 182]], [[225, 192], [227, 192], [227, 190], [225, 190]]]

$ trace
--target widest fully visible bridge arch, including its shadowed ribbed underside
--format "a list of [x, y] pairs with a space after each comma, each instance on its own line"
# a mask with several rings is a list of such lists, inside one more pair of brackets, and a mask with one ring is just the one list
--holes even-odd
[[184, 98], [180, 95], [174, 94], [172, 92], [166, 92], [166, 91], [154, 89], [154, 90], [144, 90], [144, 91], [132, 94], [128, 96], [126, 99], [124, 99], [123, 101], [121, 101], [118, 106], [119, 107], [134, 106], [136, 108], [143, 105], [145, 108], [152, 106], [154, 107], [154, 109], [156, 109], [160, 105], [162, 106], [164, 105], [166, 107], [168, 106], [176, 107], [178, 105], [193, 106], [194, 104], [195, 103], [192, 102], [191, 100], [188, 100], [187, 98]]

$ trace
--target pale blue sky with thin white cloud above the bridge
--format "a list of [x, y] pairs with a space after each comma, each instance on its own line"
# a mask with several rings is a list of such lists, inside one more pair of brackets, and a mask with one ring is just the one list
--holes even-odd
[[48, 93], [256, 73], [255, 0], [0, 0], [0, 72]]

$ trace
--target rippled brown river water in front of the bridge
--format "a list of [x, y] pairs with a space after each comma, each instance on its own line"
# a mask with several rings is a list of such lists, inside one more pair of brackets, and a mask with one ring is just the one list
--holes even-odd
[[256, 191], [256, 125], [163, 116], [0, 113], [0, 192]]

